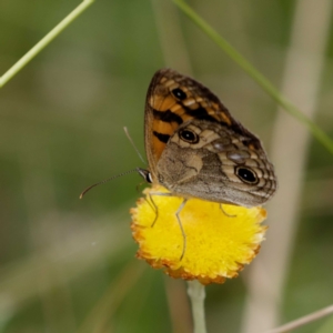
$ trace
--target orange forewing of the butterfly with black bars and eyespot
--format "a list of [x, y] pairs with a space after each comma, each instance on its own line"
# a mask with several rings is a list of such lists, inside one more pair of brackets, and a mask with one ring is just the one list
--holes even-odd
[[174, 70], [159, 70], [148, 90], [144, 117], [145, 152], [153, 178], [170, 137], [193, 119], [219, 122], [246, 132], [208, 88]]

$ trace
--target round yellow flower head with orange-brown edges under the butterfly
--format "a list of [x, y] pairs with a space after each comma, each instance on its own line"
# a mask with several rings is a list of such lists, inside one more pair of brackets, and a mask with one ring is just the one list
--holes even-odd
[[169, 193], [160, 185], [145, 189], [145, 199], [130, 211], [137, 256], [153, 268], [164, 268], [173, 278], [223, 283], [238, 276], [259, 252], [266, 230], [260, 224], [264, 209], [189, 199], [180, 212], [184, 239], [175, 215], [184, 199], [155, 192]]

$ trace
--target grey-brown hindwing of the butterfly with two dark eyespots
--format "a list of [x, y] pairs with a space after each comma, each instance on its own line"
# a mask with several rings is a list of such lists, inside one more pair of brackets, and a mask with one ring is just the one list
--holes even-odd
[[174, 195], [244, 206], [261, 205], [276, 190], [273, 165], [253, 139], [219, 123], [193, 120], [170, 138], [157, 165]]

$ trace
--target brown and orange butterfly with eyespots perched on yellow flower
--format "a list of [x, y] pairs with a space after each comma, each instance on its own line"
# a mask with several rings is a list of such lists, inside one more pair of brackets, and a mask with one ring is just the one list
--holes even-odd
[[190, 198], [251, 208], [276, 191], [259, 138], [206, 87], [172, 69], [159, 70], [149, 85], [144, 143], [149, 169], [138, 171], [184, 198], [182, 208]]

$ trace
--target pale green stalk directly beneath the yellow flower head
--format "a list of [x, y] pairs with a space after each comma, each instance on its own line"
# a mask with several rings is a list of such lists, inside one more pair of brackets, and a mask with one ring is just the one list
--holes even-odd
[[188, 282], [188, 294], [191, 300], [194, 333], [206, 333], [204, 317], [205, 290], [199, 281]]

